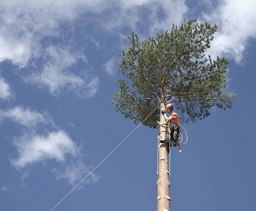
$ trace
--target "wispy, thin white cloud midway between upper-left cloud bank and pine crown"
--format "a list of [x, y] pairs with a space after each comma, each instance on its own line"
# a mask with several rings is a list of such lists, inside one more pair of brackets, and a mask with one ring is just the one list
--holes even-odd
[[45, 51], [48, 61], [38, 73], [24, 77], [27, 83], [47, 87], [49, 92], [58, 95], [63, 90], [75, 92], [80, 97], [93, 97], [99, 90], [99, 79], [96, 76], [77, 76], [69, 69], [76, 65], [78, 59], [86, 62], [86, 57], [79, 53], [56, 46], [49, 46]]

